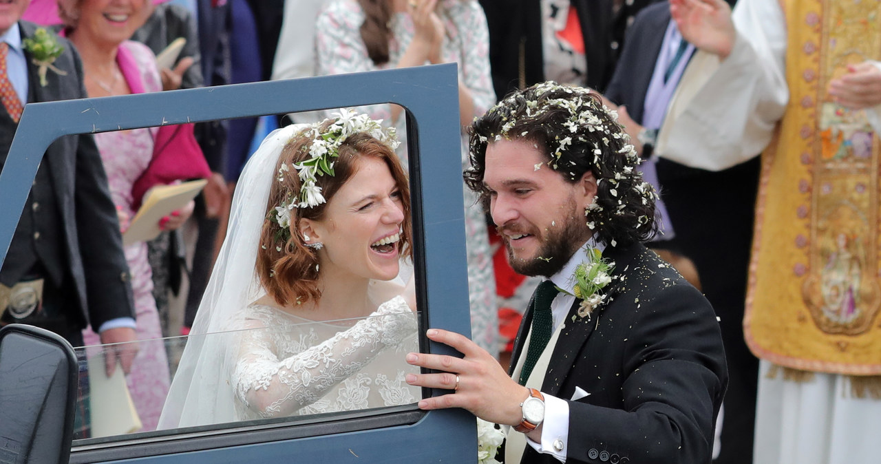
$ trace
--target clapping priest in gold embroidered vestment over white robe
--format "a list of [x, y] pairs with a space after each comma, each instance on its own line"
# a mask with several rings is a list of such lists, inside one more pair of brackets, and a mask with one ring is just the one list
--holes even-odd
[[762, 152], [743, 320], [761, 359], [754, 460], [877, 460], [877, 2], [670, 4], [700, 52], [661, 156], [722, 171]]

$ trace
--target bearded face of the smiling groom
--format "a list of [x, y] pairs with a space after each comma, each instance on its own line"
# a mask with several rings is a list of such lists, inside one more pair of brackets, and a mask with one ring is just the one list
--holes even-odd
[[596, 195], [590, 172], [570, 183], [547, 165], [532, 142], [500, 140], [486, 147], [484, 183], [490, 214], [515, 271], [552, 276], [590, 237], [585, 208]]

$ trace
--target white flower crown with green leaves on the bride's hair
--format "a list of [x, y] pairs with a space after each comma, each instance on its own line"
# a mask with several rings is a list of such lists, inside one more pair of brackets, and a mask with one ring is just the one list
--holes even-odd
[[341, 108], [336, 115], [337, 120], [326, 129], [322, 129], [324, 122], [316, 122], [293, 136], [293, 138], [307, 137], [312, 140], [308, 159], [290, 165], [282, 163], [278, 167], [279, 182], [284, 181], [285, 175], [291, 175], [292, 171], [300, 177], [299, 195], [288, 194], [275, 207], [275, 214], [270, 214], [270, 220], [278, 223], [285, 238], [291, 226], [291, 211], [294, 208], [313, 208], [327, 202], [322, 195], [322, 188], [315, 182], [318, 176], [334, 175], [334, 158], [339, 157], [339, 147], [349, 136], [366, 133], [389, 145], [393, 151], [401, 144], [397, 139], [395, 128], [382, 127], [382, 120], [370, 119], [370, 116], [356, 114], [348, 108]]

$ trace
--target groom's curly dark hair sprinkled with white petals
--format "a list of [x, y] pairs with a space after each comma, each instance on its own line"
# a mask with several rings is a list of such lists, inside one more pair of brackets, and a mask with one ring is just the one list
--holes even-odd
[[593, 173], [596, 207], [586, 222], [593, 223], [597, 240], [622, 246], [647, 241], [657, 232], [657, 195], [636, 169], [640, 158], [617, 119], [596, 94], [581, 87], [546, 82], [514, 92], [470, 125], [465, 184], [488, 210], [487, 145], [502, 137], [528, 141], [570, 183]]

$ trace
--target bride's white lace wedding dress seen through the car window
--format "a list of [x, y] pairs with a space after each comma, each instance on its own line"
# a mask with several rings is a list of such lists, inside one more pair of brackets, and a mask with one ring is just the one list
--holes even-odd
[[418, 351], [416, 315], [396, 297], [365, 319], [320, 322], [272, 306], [241, 313], [232, 372], [238, 420], [418, 401], [404, 356]]

